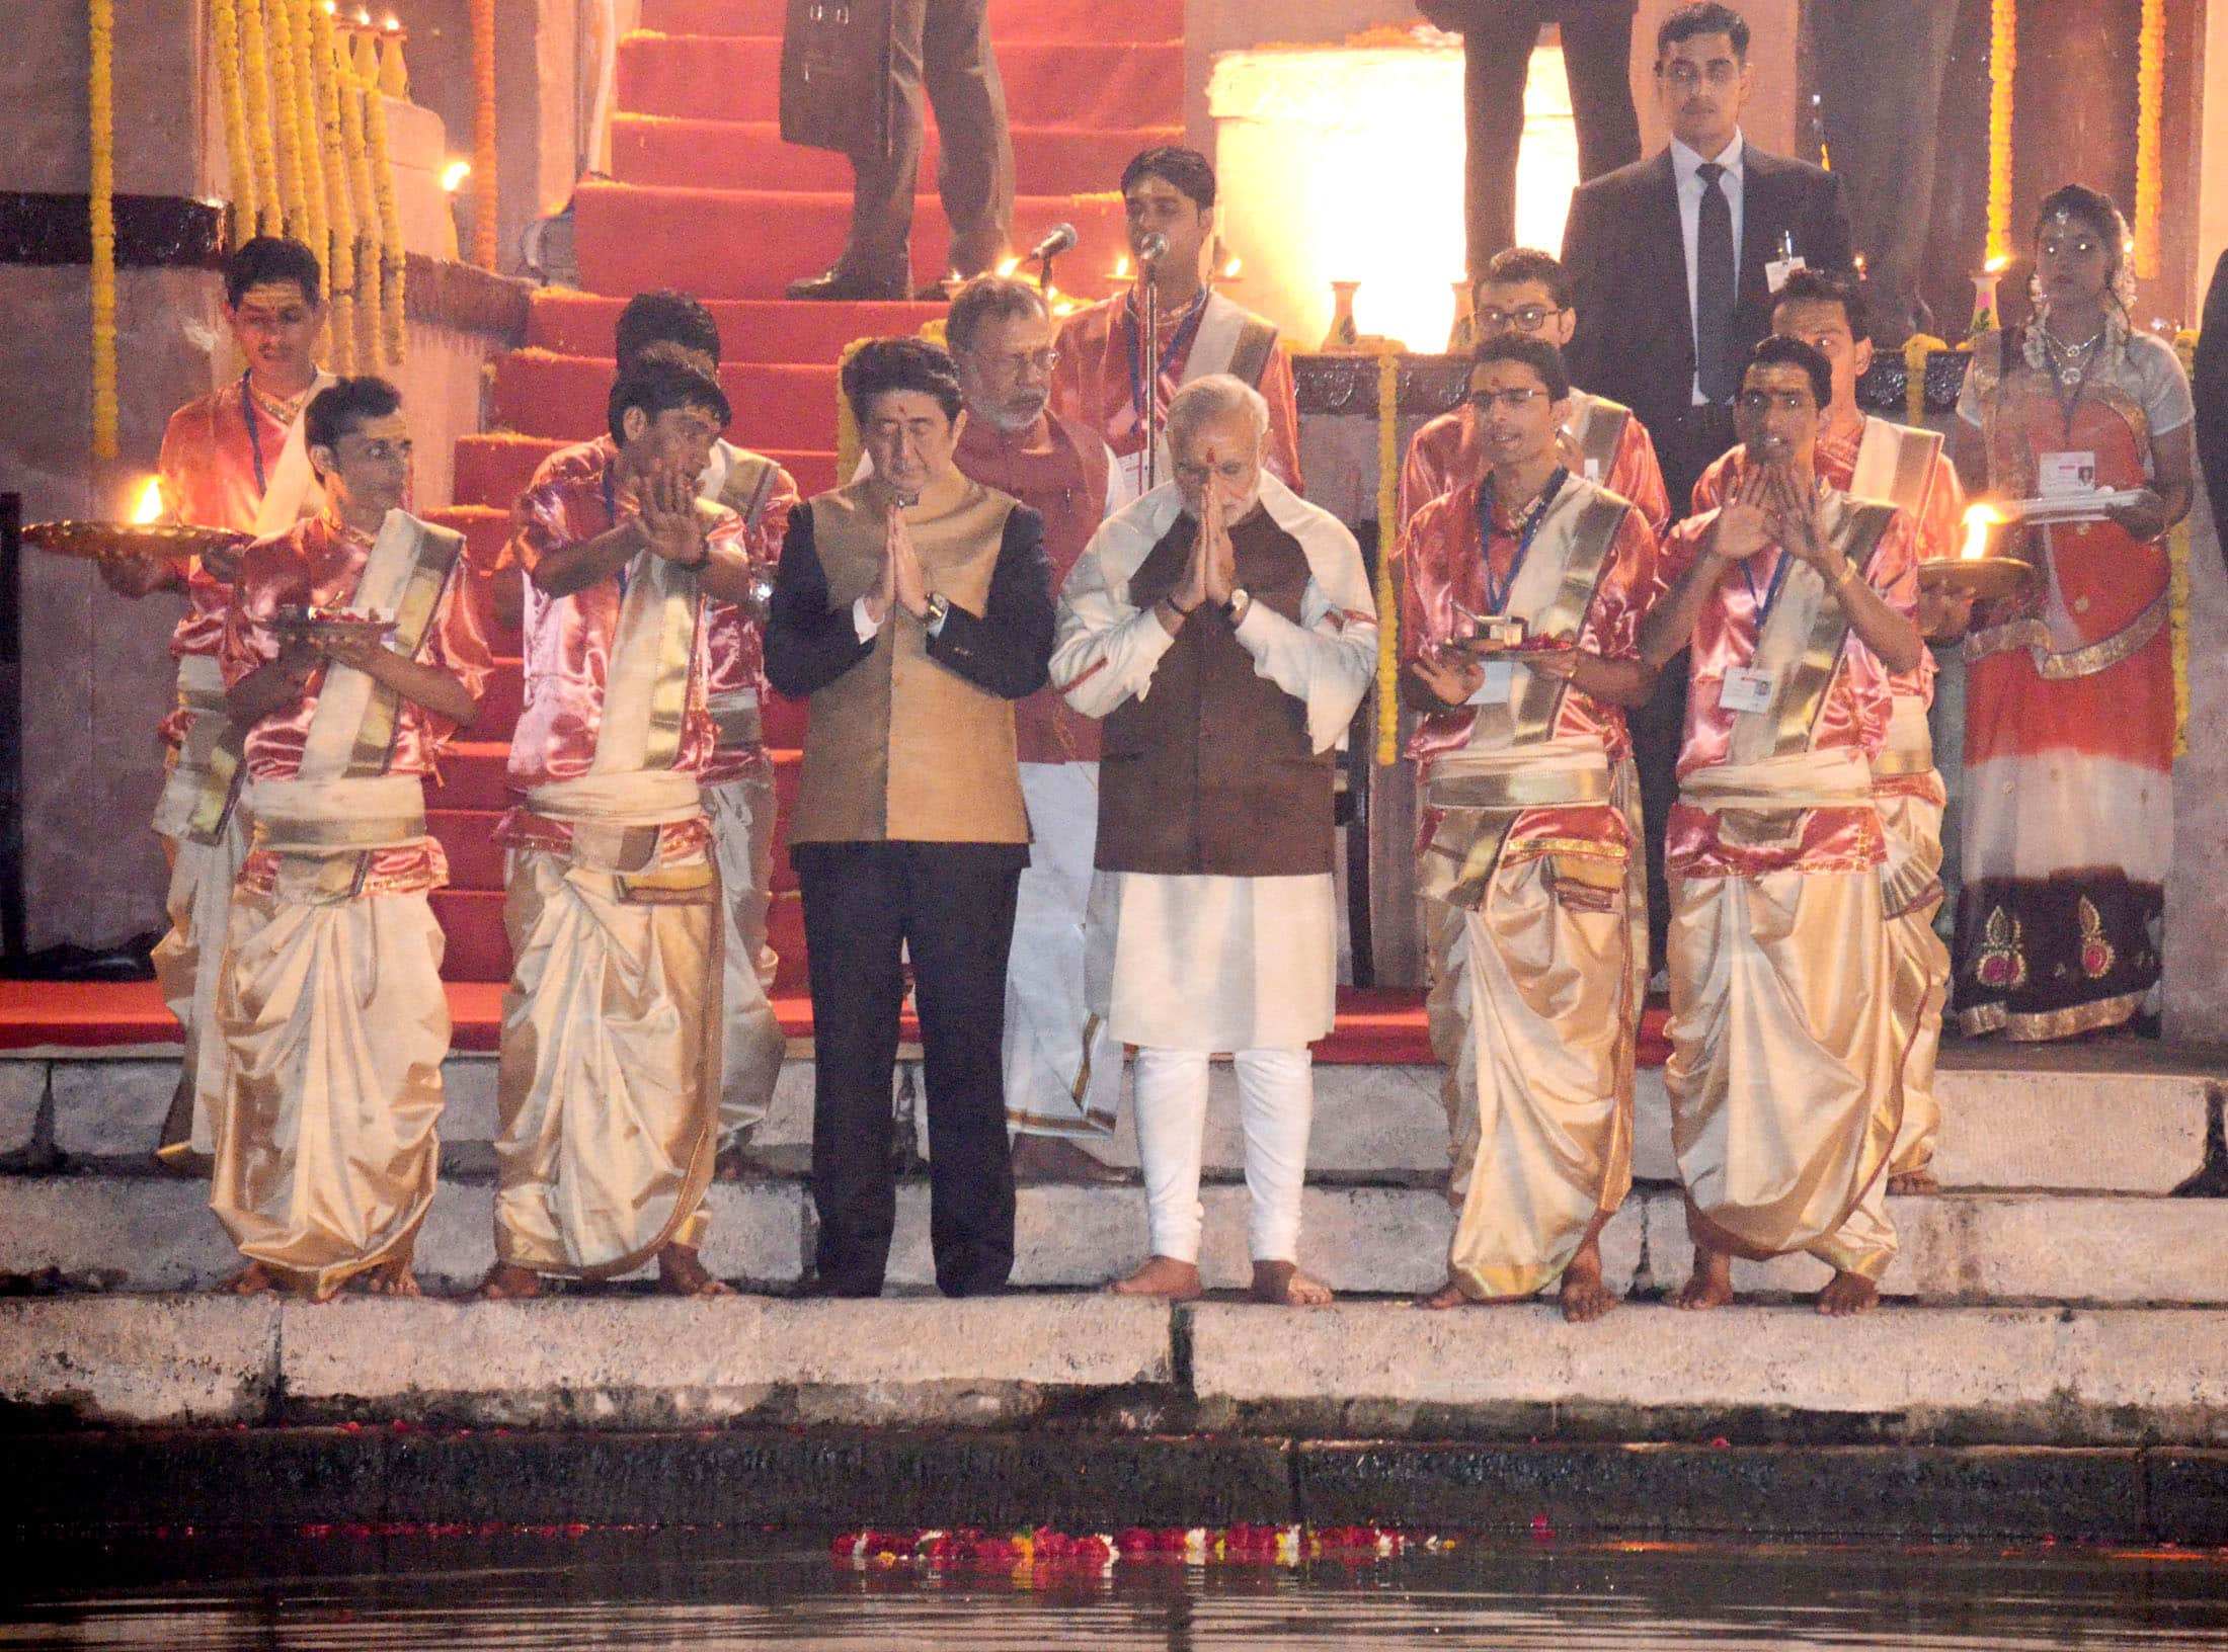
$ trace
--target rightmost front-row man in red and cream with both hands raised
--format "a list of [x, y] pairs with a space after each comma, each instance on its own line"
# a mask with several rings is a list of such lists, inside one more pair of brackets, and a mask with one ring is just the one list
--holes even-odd
[[1831, 401], [1811, 345], [1756, 345], [1733, 403], [1749, 474], [1671, 532], [1642, 626], [1651, 666], [1693, 643], [1669, 822], [1680, 1307], [1729, 1302], [1736, 1256], [1807, 1251], [1834, 1269], [1820, 1311], [1856, 1314], [1896, 1253], [1905, 1035], [1872, 766], [1892, 677], [1923, 657], [1916, 532], [1818, 476]]

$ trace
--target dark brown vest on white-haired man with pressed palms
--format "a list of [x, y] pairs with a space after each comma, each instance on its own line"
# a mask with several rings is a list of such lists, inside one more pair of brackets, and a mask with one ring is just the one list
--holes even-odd
[[[1174, 528], [1130, 577], [1130, 601], [1170, 594], [1196, 523]], [[1266, 510], [1230, 530], [1237, 583], [1299, 621], [1308, 557]], [[1098, 866], [1110, 873], [1292, 877], [1328, 873], [1332, 755], [1312, 750], [1308, 708], [1268, 677], [1212, 608], [1192, 614], [1143, 699], [1105, 719]]]

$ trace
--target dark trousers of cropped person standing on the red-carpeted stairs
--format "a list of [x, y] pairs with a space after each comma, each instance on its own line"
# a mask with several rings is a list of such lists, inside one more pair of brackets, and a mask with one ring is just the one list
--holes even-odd
[[[851, 240], [842, 269], [907, 274], [922, 94], [936, 107], [936, 187], [951, 220], [951, 267], [978, 276], [1014, 234], [1014, 142], [1005, 82], [989, 49], [989, 0], [898, 0], [889, 62], [896, 109], [889, 160], [851, 163]], [[942, 267], [936, 274], [945, 274]]]

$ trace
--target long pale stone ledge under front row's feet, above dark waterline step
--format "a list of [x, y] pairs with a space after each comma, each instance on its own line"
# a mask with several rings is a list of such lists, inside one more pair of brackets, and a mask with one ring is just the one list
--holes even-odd
[[1544, 1307], [1103, 1296], [16, 1298], [0, 1405], [49, 1427], [965, 1427], [1056, 1409], [1110, 1434], [2210, 1445], [2228, 1438], [2228, 1314], [1642, 1305], [1573, 1327]]

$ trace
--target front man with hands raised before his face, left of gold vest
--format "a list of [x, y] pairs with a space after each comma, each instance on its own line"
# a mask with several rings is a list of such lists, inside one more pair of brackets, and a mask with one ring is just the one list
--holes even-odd
[[608, 439], [550, 454], [512, 512], [524, 799], [497, 828], [512, 966], [488, 1296], [651, 1258], [671, 1294], [726, 1289], [697, 1256], [720, 1111], [704, 603], [753, 577], [742, 521], [697, 499], [726, 421], [717, 381], [642, 358]]

